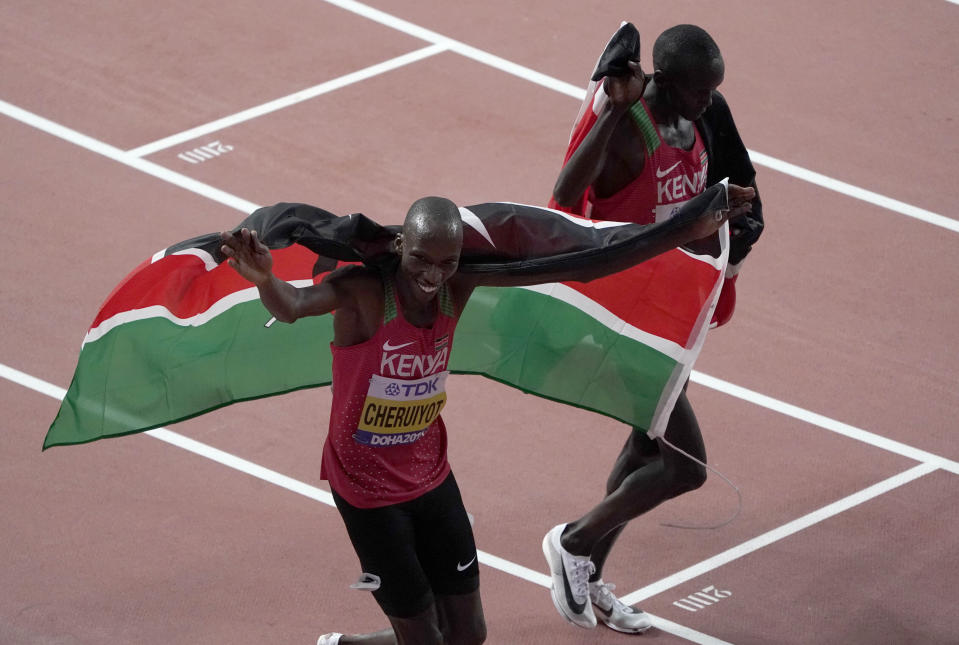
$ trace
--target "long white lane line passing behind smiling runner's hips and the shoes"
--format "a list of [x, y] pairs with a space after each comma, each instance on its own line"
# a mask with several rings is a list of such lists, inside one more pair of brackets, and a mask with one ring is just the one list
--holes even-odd
[[[41, 394], [46, 394], [47, 396], [57, 399], [58, 401], [62, 401], [63, 397], [65, 397], [67, 394], [67, 391], [62, 387], [58, 387], [52, 383], [47, 383], [46, 381], [38, 379], [2, 363], [0, 363], [0, 377], [3, 377], [9, 381], [13, 381], [14, 383], [18, 383]], [[228, 468], [245, 473], [251, 477], [256, 477], [262, 481], [269, 482], [275, 486], [279, 486], [280, 488], [303, 495], [304, 497], [315, 500], [322, 504], [326, 504], [327, 506], [334, 508], [336, 507], [336, 504], [333, 502], [333, 496], [322, 488], [318, 488], [305, 482], [301, 482], [298, 479], [288, 477], [282, 473], [278, 473], [275, 470], [266, 468], [265, 466], [261, 466], [247, 459], [243, 459], [242, 457], [238, 457], [224, 450], [220, 450], [219, 448], [214, 448], [209, 444], [197, 441], [196, 439], [191, 439], [190, 437], [173, 432], [167, 428], [147, 430], [143, 434], [150, 435], [155, 439], [159, 439], [160, 441], [176, 446], [177, 448], [181, 448], [197, 456], [209, 459]], [[501, 558], [480, 549], [477, 549], [476, 553], [480, 563], [492, 569], [502, 571], [503, 573], [520, 578], [521, 580], [532, 582], [533, 584], [545, 587], [547, 589], [550, 586], [550, 576], [540, 571], [535, 571], [528, 567], [524, 567], [521, 564], [511, 562], [505, 558]], [[650, 618], [653, 620], [655, 626], [659, 629], [665, 632], [670, 632], [676, 636], [681, 636], [687, 640], [693, 641], [694, 643], [702, 643], [703, 645], [725, 645], [725, 641], [713, 638], [707, 634], [702, 634], [696, 630], [690, 629], [689, 627], [659, 618], [658, 616], [653, 616], [652, 614], [650, 614]]]

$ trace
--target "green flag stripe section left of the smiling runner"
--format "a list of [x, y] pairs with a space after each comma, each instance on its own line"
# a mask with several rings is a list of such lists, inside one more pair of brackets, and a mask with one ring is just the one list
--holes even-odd
[[196, 327], [148, 318], [88, 342], [44, 449], [149, 430], [237, 401], [328, 384], [333, 317], [266, 327], [269, 319], [254, 300]]

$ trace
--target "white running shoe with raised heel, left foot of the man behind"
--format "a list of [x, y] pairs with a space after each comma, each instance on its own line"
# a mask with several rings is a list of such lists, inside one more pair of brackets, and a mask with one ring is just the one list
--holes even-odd
[[565, 524], [554, 526], [543, 538], [543, 555], [553, 576], [550, 595], [563, 618], [592, 629], [596, 627], [596, 616], [589, 601], [589, 577], [596, 567], [588, 555], [573, 555], [563, 548], [559, 538], [565, 528]]

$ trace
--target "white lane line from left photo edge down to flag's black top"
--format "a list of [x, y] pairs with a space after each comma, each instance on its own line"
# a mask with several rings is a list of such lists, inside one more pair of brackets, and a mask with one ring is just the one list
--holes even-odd
[[109, 144], [98, 141], [93, 137], [89, 137], [85, 134], [77, 132], [76, 130], [71, 130], [70, 128], [55, 123], [49, 119], [45, 119], [42, 116], [34, 114], [33, 112], [28, 112], [23, 108], [17, 107], [12, 103], [7, 103], [6, 101], [0, 100], [0, 113], [3, 113], [10, 117], [11, 119], [16, 119], [21, 123], [25, 123], [31, 127], [42, 130], [47, 134], [52, 134], [55, 137], [59, 137], [64, 141], [69, 141], [70, 143], [85, 148], [91, 152], [95, 152], [99, 155], [103, 155], [108, 159], [122, 163], [125, 166], [130, 168], [135, 168], [140, 172], [144, 172], [148, 175], [156, 177], [157, 179], [162, 179], [165, 182], [174, 184], [189, 190], [190, 192], [196, 193], [197, 195], [202, 195], [207, 199], [225, 204], [237, 210], [243, 211], [244, 213], [251, 213], [258, 208], [253, 202], [249, 202], [245, 199], [241, 199], [236, 195], [231, 195], [226, 191], [222, 191], [219, 188], [214, 188], [209, 184], [204, 184], [203, 182], [197, 181], [186, 175], [181, 175], [178, 172], [164, 168], [158, 164], [153, 163], [152, 161], [147, 161], [146, 159], [140, 159], [131, 154], [128, 154], [119, 148], [115, 148]]

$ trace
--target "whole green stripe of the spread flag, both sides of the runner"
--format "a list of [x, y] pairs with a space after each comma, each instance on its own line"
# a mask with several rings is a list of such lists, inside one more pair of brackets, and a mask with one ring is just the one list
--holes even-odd
[[[269, 319], [254, 300], [202, 325], [147, 318], [88, 342], [44, 449], [328, 385], [333, 317], [266, 327]], [[457, 326], [449, 367], [644, 429], [681, 369], [672, 358], [574, 305], [538, 291], [502, 287], [474, 292]]]

